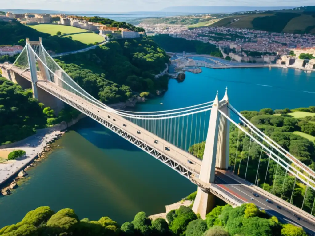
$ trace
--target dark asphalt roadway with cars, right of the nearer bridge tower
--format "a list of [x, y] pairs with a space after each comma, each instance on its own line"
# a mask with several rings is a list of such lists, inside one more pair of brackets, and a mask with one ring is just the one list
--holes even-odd
[[[239, 183], [238, 181], [232, 179], [224, 175], [223, 173], [216, 171], [216, 181], [218, 184], [224, 184], [224, 187], [227, 188], [232, 193], [238, 194], [242, 197], [243, 200], [247, 202], [253, 202], [260, 208], [263, 208], [267, 213], [270, 215], [276, 216], [281, 222], [285, 223], [292, 223], [297, 226], [301, 226], [306, 233], [309, 235], [315, 235], [315, 223], [311, 221], [305, 221], [306, 219], [299, 214], [296, 214], [300, 217], [298, 220], [295, 216], [293, 216], [293, 211], [285, 206], [279, 204], [281, 209], [277, 209], [277, 202], [268, 203], [266, 199], [268, 199], [264, 194], [261, 192], [255, 192], [259, 195], [259, 197], [255, 197], [252, 192], [253, 190], [246, 185]], [[254, 198], [254, 200], [250, 200], [250, 198]]]

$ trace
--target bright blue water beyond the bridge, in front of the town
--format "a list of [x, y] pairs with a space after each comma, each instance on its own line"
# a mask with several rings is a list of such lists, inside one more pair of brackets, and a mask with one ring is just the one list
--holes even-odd
[[[315, 73], [283, 68], [202, 68], [200, 74], [186, 72], [179, 83], [169, 81], [163, 97], [137, 106], [141, 111], [169, 110], [212, 101], [216, 91], [237, 110], [284, 109], [315, 105]], [[163, 103], [163, 105], [160, 105]]]

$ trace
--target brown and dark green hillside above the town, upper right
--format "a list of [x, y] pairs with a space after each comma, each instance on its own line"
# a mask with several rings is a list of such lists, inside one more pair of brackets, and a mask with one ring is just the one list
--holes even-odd
[[[312, 11], [311, 11], [312, 10]], [[305, 9], [266, 11], [259, 14], [243, 14], [228, 16], [211, 26], [246, 28], [283, 33], [315, 33], [315, 11], [311, 7]]]

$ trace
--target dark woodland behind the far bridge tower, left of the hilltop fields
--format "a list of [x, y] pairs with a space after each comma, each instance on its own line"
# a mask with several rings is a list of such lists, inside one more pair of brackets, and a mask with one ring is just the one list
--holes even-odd
[[24, 46], [26, 38], [29, 38], [31, 41], [38, 41], [39, 37], [42, 37], [46, 50], [51, 50], [55, 53], [75, 51], [87, 47], [86, 44], [70, 38], [51, 36], [50, 34], [39, 32], [21, 24], [17, 20], [12, 20], [12, 22], [0, 21], [0, 32], [2, 35], [5, 35], [5, 37], [0, 37], [0, 45], [20, 44]]

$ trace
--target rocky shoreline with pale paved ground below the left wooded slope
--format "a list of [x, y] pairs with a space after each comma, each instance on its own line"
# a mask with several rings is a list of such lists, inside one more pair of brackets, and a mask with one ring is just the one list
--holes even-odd
[[25, 177], [27, 175], [25, 171], [33, 166], [33, 162], [42, 159], [45, 153], [51, 150], [50, 143], [59, 139], [68, 127], [76, 124], [85, 116], [80, 114], [68, 123], [63, 121], [55, 126], [39, 129], [34, 135], [23, 140], [1, 145], [1, 151], [22, 149], [26, 151], [26, 156], [0, 163], [0, 195], [7, 195], [6, 189], [10, 190], [18, 187], [16, 180]]

